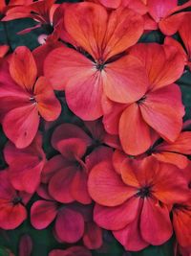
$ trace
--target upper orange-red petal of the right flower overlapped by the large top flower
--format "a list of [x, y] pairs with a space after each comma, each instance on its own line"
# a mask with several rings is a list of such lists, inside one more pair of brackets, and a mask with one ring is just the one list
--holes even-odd
[[184, 58], [177, 48], [157, 43], [139, 43], [130, 51], [146, 67], [151, 88], [159, 88], [177, 81], [184, 68]]

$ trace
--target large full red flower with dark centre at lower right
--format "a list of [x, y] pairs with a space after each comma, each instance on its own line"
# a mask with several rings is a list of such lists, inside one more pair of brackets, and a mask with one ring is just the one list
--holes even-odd
[[88, 187], [96, 200], [94, 220], [127, 250], [165, 243], [173, 234], [171, 205], [189, 196], [180, 170], [152, 156], [127, 159], [118, 172], [111, 160], [102, 161], [91, 171]]

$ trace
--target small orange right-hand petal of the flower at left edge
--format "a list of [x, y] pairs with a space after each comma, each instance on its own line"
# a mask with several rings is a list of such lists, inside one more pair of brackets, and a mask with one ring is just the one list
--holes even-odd
[[56, 99], [50, 82], [45, 77], [40, 77], [34, 85], [34, 97], [40, 115], [46, 121], [53, 121], [61, 113], [61, 105]]

